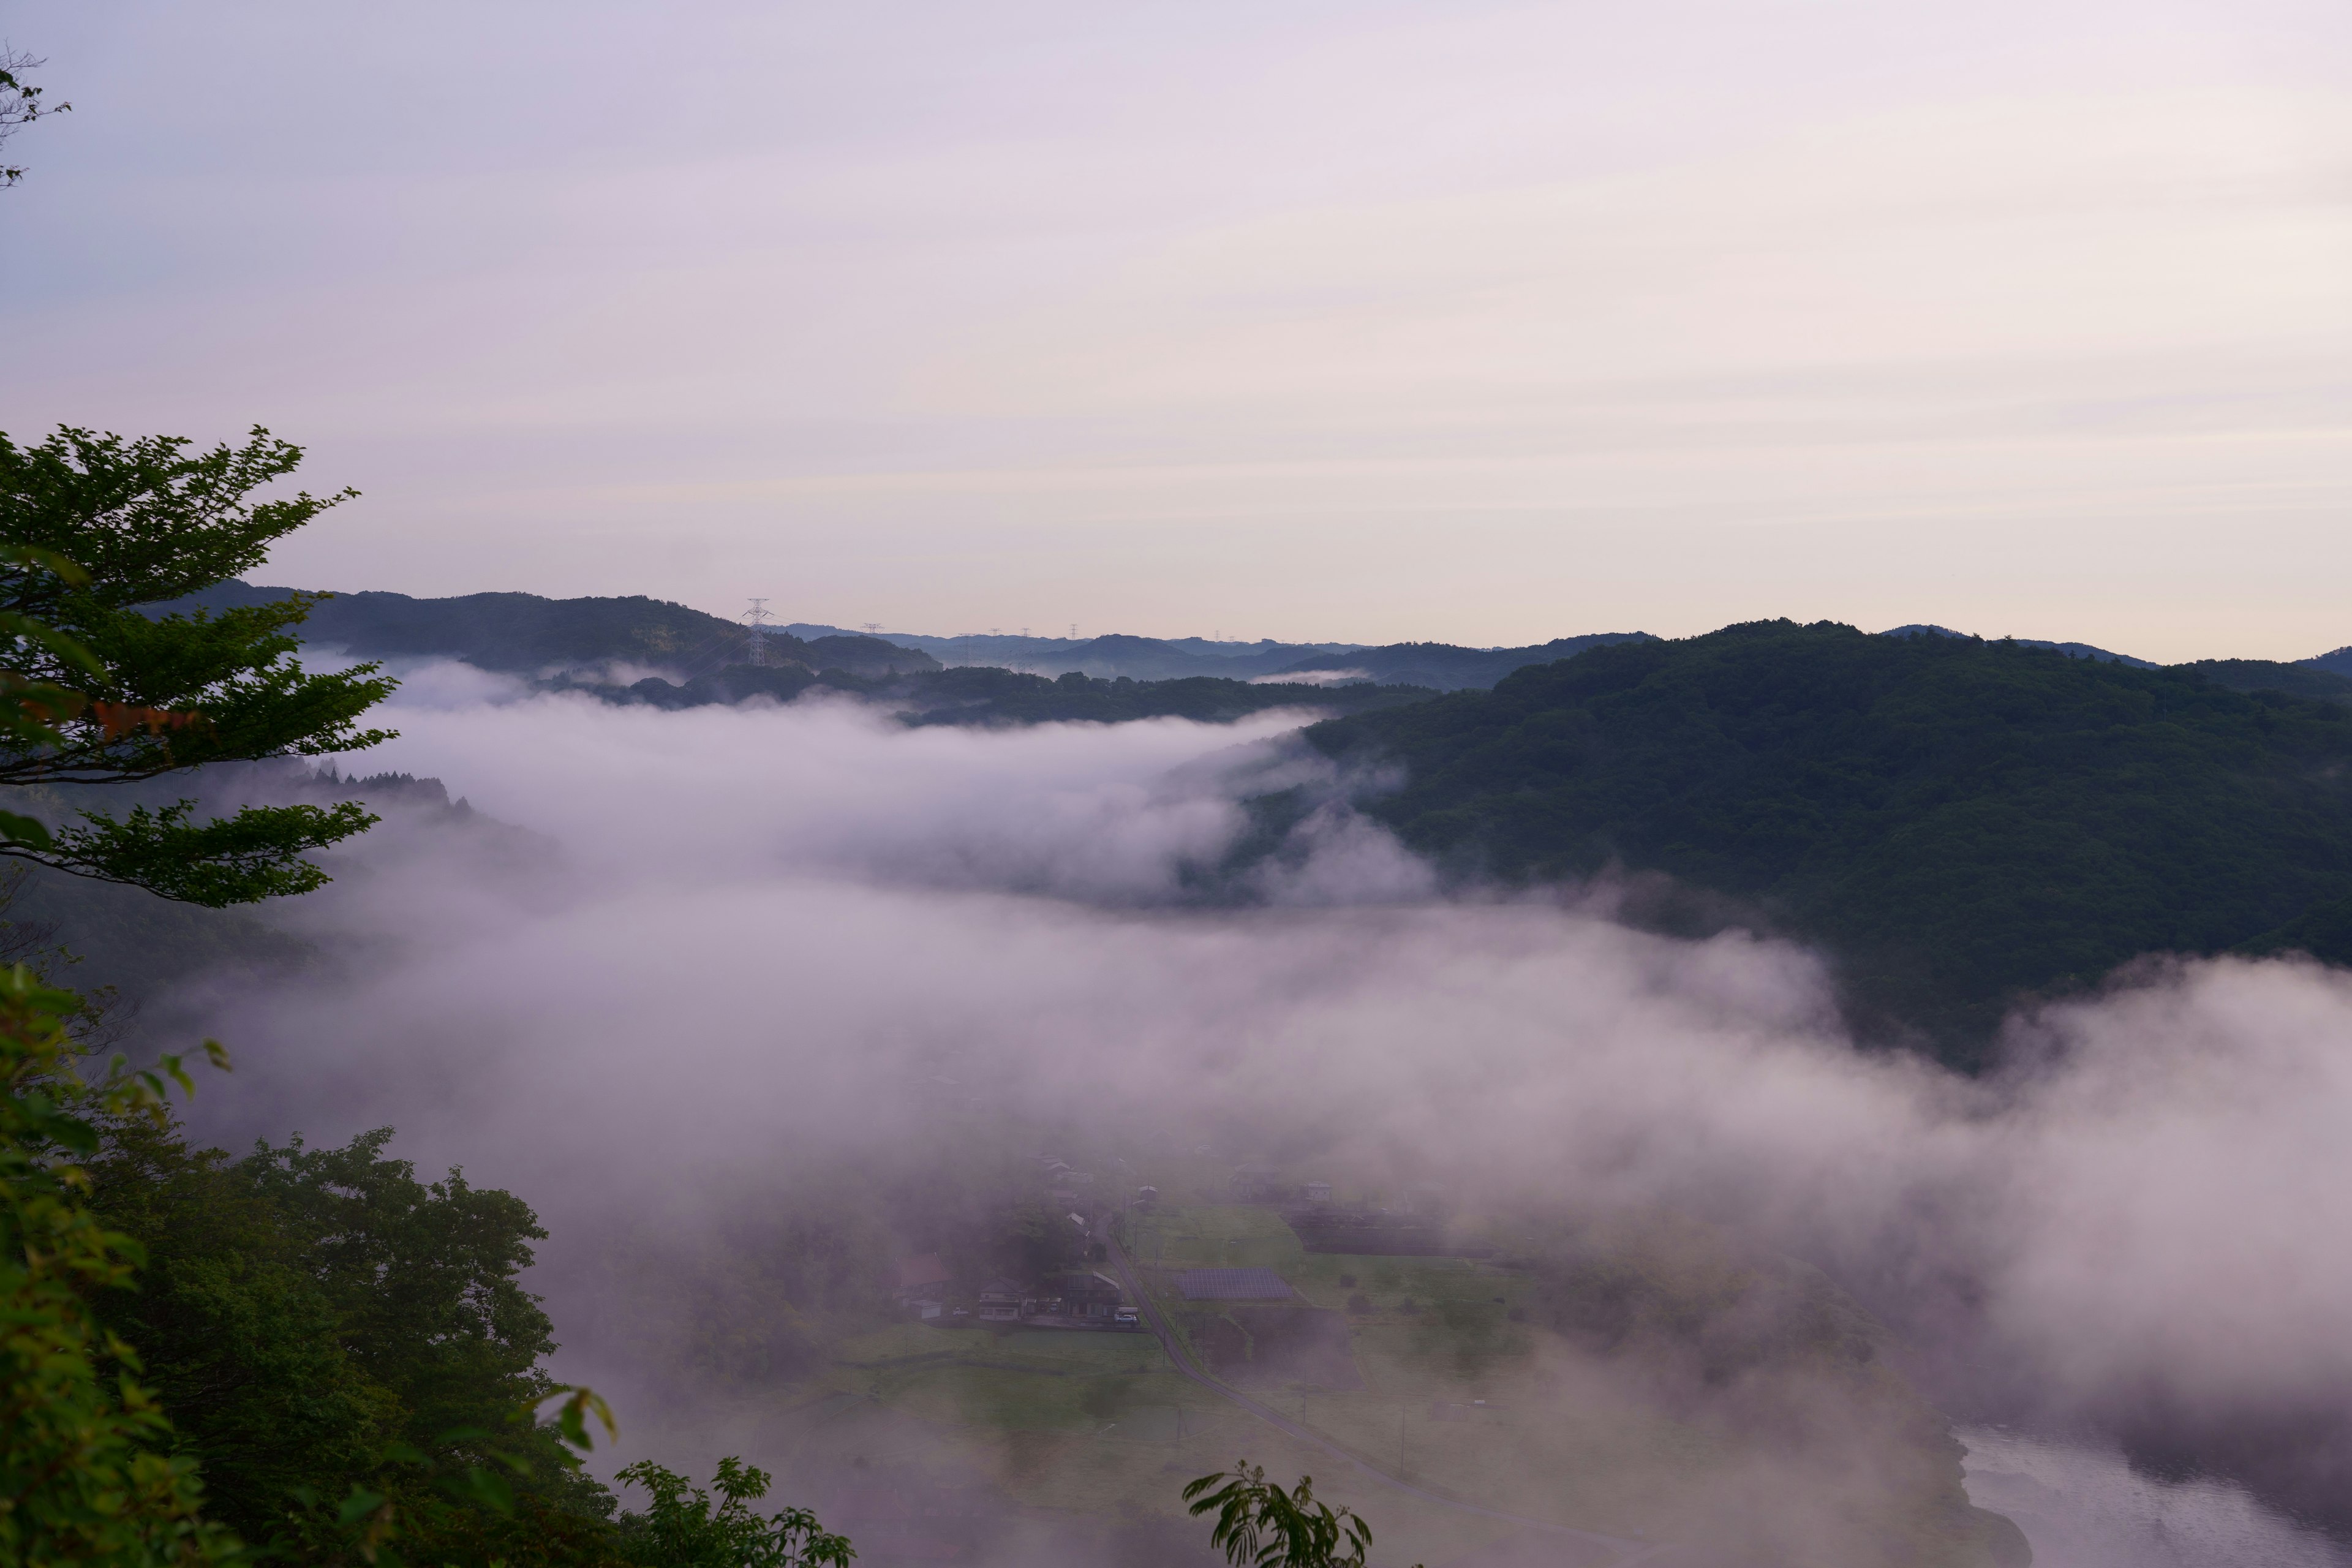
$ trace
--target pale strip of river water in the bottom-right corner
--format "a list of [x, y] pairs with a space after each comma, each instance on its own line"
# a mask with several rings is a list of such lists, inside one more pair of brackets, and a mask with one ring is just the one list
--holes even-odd
[[2114, 1448], [1962, 1427], [1969, 1500], [2009, 1514], [2034, 1568], [2352, 1568], [2352, 1547], [2230, 1481], [2157, 1481]]

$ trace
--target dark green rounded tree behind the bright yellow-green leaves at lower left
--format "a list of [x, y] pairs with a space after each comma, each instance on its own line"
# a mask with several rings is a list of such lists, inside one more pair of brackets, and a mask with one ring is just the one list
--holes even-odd
[[212, 1516], [270, 1540], [301, 1528], [303, 1493], [414, 1502], [423, 1462], [506, 1460], [532, 1495], [609, 1509], [550, 1429], [510, 1422], [555, 1394], [539, 1366], [550, 1324], [517, 1281], [546, 1232], [520, 1199], [456, 1171], [419, 1182], [383, 1157], [390, 1128], [242, 1161], [191, 1150], [167, 1119], [103, 1131], [92, 1208], [148, 1265], [136, 1293], [99, 1309], [141, 1347], [179, 1448], [202, 1460]]

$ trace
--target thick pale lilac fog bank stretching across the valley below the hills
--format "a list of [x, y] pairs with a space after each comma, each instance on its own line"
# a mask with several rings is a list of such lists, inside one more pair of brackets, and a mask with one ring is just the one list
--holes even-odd
[[[2013, 1020], [2011, 1065], [1969, 1081], [1858, 1053], [1799, 947], [1646, 936], [1571, 893], [1439, 900], [1338, 806], [1254, 907], [1200, 905], [1242, 795], [1329, 783], [1296, 719], [903, 731], [428, 686], [367, 766], [555, 849], [358, 851], [289, 919], [362, 957], [186, 1001], [242, 1063], [207, 1131], [390, 1121], [532, 1197], [560, 1248], [616, 1201], [950, 1114], [1216, 1126], [1237, 1157], [1708, 1215], [1891, 1314], [1947, 1401], [2216, 1429], [2352, 1408], [2345, 973], [2150, 964]], [[2310, 1502], [2352, 1448], [2303, 1432]]]

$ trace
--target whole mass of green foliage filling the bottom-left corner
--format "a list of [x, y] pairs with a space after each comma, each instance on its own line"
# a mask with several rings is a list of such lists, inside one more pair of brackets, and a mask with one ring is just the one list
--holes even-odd
[[[61, 992], [35, 1001], [52, 1023], [71, 1016]], [[42, 1058], [45, 1084], [75, 1081], [61, 1051], [71, 1046]], [[240, 1554], [240, 1537], [294, 1561], [374, 1568], [849, 1561], [849, 1544], [804, 1509], [753, 1514], [767, 1476], [736, 1460], [720, 1467], [717, 1502], [656, 1465], [623, 1472], [654, 1507], [614, 1519], [614, 1497], [572, 1453], [588, 1448], [588, 1415], [612, 1418], [541, 1366], [550, 1324], [520, 1272], [546, 1232], [527, 1204], [456, 1171], [419, 1180], [383, 1154], [390, 1128], [336, 1150], [195, 1150], [162, 1107], [162, 1081], [118, 1067], [108, 1086], [73, 1091], [87, 1107], [66, 1121], [40, 1095], [0, 1107], [0, 1131], [16, 1133], [9, 1150], [26, 1145], [24, 1114], [47, 1114], [80, 1150], [73, 1192], [33, 1206], [47, 1234], [80, 1239], [66, 1253], [78, 1274], [47, 1286], [49, 1316], [71, 1333], [16, 1331], [7, 1408], [80, 1434], [64, 1474], [101, 1488], [101, 1502], [146, 1488], [129, 1493], [146, 1514], [132, 1509], [122, 1540], [85, 1528], [94, 1561], [212, 1561]], [[40, 1255], [9, 1248], [12, 1262]], [[16, 1276], [0, 1274], [0, 1288], [14, 1324], [45, 1324]], [[71, 1354], [52, 1345], [61, 1335]], [[56, 1387], [28, 1378], [35, 1356]], [[64, 1396], [73, 1389], [78, 1401]], [[562, 1399], [555, 1420], [534, 1420], [550, 1399]], [[71, 1497], [9, 1472], [16, 1453], [45, 1448], [12, 1441], [0, 1483], [71, 1521]], [[7, 1561], [40, 1556], [0, 1552]]]

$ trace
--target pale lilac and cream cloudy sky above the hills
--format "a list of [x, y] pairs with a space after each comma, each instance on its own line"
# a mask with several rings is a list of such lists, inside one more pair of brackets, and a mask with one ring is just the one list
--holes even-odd
[[2352, 644], [2343, 0], [66, 5], [0, 428], [261, 576], [960, 632]]

